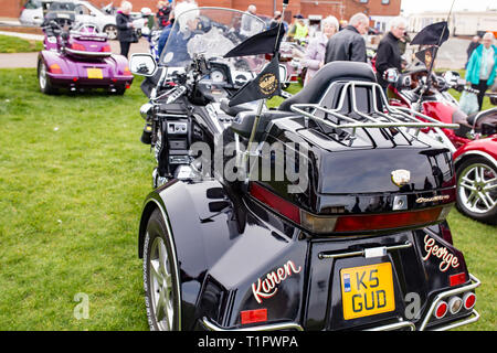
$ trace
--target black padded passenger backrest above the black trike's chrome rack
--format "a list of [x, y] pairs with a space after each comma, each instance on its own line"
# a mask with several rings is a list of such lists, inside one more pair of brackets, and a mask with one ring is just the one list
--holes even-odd
[[307, 86], [295, 96], [286, 99], [279, 110], [290, 111], [294, 104], [317, 104], [332, 82], [363, 81], [377, 82], [371, 65], [356, 62], [331, 62], [319, 69]]

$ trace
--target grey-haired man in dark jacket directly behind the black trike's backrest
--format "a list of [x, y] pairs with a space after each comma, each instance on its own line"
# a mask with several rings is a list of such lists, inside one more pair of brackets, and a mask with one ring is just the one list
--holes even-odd
[[356, 13], [340, 32], [334, 34], [326, 45], [325, 64], [335, 61], [366, 63], [366, 42], [369, 19], [362, 12]]

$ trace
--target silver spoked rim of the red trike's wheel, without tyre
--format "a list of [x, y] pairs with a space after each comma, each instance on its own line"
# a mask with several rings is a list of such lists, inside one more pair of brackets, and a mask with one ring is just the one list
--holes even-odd
[[484, 214], [497, 206], [497, 173], [484, 163], [464, 169], [457, 189], [462, 204], [473, 213]]

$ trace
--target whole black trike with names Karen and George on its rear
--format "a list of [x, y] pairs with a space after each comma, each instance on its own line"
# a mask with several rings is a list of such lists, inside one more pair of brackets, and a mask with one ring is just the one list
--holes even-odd
[[[244, 15], [192, 9], [158, 67], [131, 57], [150, 97], [141, 140], [158, 163], [138, 236], [150, 329], [448, 330], [478, 320], [479, 281], [445, 221], [455, 174], [440, 129], [457, 125], [390, 106], [362, 63], [325, 65], [278, 109], [230, 106], [246, 82], [233, 77], [278, 84], [256, 56], [223, 57], [245, 40]], [[189, 21], [193, 42], [172, 46]], [[223, 45], [200, 53], [214, 42]]]

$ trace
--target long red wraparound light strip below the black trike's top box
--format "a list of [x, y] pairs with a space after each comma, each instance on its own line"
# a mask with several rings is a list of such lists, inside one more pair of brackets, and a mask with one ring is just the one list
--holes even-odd
[[321, 216], [300, 210], [255, 182], [250, 184], [250, 193], [282, 216], [316, 234], [383, 231], [432, 224], [443, 221], [447, 214], [446, 210], [452, 207], [448, 205], [374, 215]]

